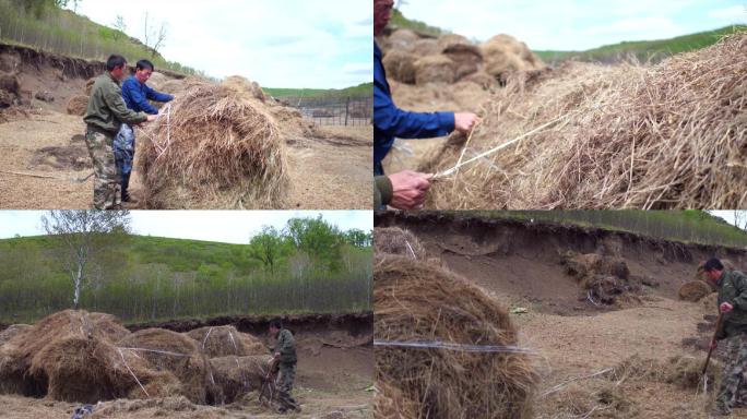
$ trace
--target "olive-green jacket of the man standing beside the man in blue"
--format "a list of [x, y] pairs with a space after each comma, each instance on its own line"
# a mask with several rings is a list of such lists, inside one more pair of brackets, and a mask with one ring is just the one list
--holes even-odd
[[122, 99], [122, 88], [110, 74], [102, 74], [96, 79], [83, 117], [90, 128], [116, 135], [122, 123], [134, 125], [146, 119], [145, 113], [128, 109]]

